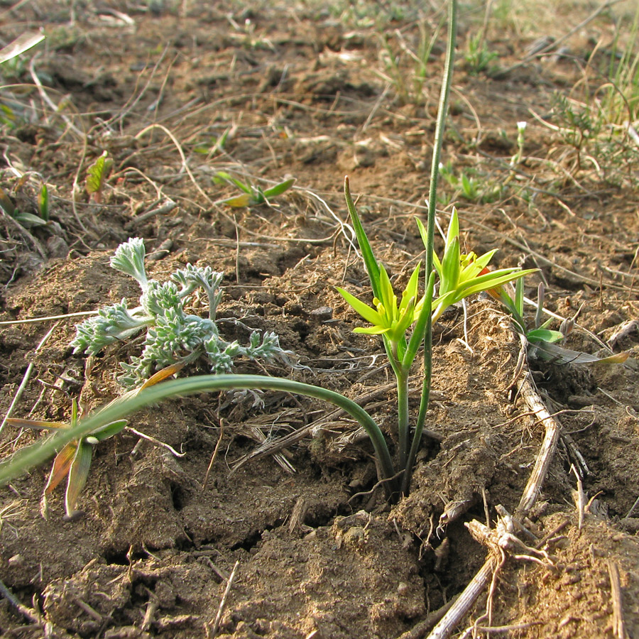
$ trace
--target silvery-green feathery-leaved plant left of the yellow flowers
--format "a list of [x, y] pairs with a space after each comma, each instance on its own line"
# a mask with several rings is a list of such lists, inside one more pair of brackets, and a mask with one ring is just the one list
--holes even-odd
[[[105, 346], [129, 339], [146, 330], [140, 356], [121, 363], [119, 381], [131, 388], [139, 386], [154, 371], [172, 364], [190, 364], [205, 359], [213, 373], [227, 373], [241, 357], [270, 360], [284, 356], [278, 336], [273, 332], [251, 332], [249, 344], [227, 342], [217, 326], [217, 307], [222, 300], [224, 273], [210, 266], [193, 266], [175, 271], [170, 280], [149, 279], [144, 266], [146, 250], [140, 238], [121, 244], [111, 258], [116, 271], [131, 275], [142, 289], [140, 305], [129, 309], [126, 299], [99, 310], [96, 317], [76, 327], [71, 342], [74, 353], [97, 354]], [[194, 293], [204, 291], [209, 302], [208, 317], [187, 312]]]

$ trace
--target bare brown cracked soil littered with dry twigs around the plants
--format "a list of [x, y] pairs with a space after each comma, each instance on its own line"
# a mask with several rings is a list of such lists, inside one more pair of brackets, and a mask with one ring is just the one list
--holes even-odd
[[[47, 38], [3, 69], [16, 86], [0, 94], [12, 112], [1, 187], [35, 213], [45, 180], [51, 222], [23, 228], [3, 214], [0, 319], [135, 300], [109, 256], [142, 237], [155, 278], [187, 262], [226, 273], [219, 315], [241, 320], [224, 324], [227, 337], [274, 330], [303, 365], [268, 364], [268, 373], [360, 398], [392, 439], [383, 347], [352, 332], [361, 322], [334, 289], [368, 295], [342, 226], [342, 182], [349, 175], [373, 248], [405, 282], [423, 253], [414, 218], [425, 215], [442, 73], [445, 11], [433, 4], [2, 3], [3, 44], [40, 27]], [[567, 346], [605, 354], [625, 327], [610, 344], [630, 359], [533, 367], [562, 437], [523, 522], [534, 537], [517, 535], [545, 555], [509, 552], [526, 556], [507, 559], [454, 633], [639, 638], [639, 332], [628, 324], [638, 317], [638, 148], [627, 126], [606, 137], [611, 129], [570, 121], [601, 98], [632, 11], [617, 5], [571, 32], [596, 4], [493, 4], [486, 23], [484, 7], [461, 8], [442, 161], [474, 191], [464, 197], [442, 179], [439, 219], [445, 227], [457, 204], [469, 250], [496, 247], [497, 266], [540, 268], [528, 297], [543, 279], [550, 310], [579, 311]], [[420, 42], [437, 28], [415, 80]], [[496, 53], [486, 70], [468, 55], [478, 33]], [[554, 44], [536, 56], [530, 46], [542, 36]], [[528, 126], [513, 170], [518, 121]], [[114, 166], [96, 203], [84, 177], [104, 151]], [[213, 180], [220, 170], [263, 188], [297, 181], [271, 206], [231, 209], [216, 204], [234, 195]], [[544, 437], [511, 392], [518, 342], [508, 318], [484, 299], [466, 316], [452, 310], [435, 329], [427, 428], [436, 437], [395, 506], [373, 490], [372, 449], [356, 425], [284, 393], [265, 393], [263, 407], [199, 395], [136, 415], [131, 425], [181, 456], [131, 432], [100, 444], [77, 520], [64, 520], [61, 488], [48, 518], [40, 514], [48, 464], [2, 488], [0, 579], [32, 618], [3, 598], [0, 634], [427, 636], [487, 557], [464, 523], [488, 516], [494, 525], [497, 506], [516, 510]], [[30, 364], [15, 417], [68, 420], [72, 398], [95, 408], [121, 393], [118, 362], [136, 344], [85, 366], [69, 346], [75, 321], [0, 327], [3, 414]], [[303, 436], [255, 454], [294, 431]], [[2, 456], [36, 437], [6, 426]], [[582, 522], [571, 466], [589, 501]]]

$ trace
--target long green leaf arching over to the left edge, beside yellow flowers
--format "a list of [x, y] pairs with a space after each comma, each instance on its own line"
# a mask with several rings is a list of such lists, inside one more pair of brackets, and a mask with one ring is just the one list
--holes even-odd
[[380, 479], [388, 480], [384, 481], [386, 493], [389, 497], [395, 493], [394, 482], [392, 481], [392, 478], [395, 476], [395, 469], [393, 468], [391, 455], [388, 453], [386, 440], [376, 422], [366, 413], [364, 408], [361, 408], [361, 406], [353, 400], [344, 397], [344, 395], [329, 391], [326, 388], [284, 378], [261, 375], [193, 376], [158, 383], [155, 386], [144, 388], [139, 392], [127, 393], [104, 408], [94, 411], [89, 416], [80, 420], [74, 427], [60, 430], [50, 439], [31, 444], [31, 446], [23, 448], [21, 451], [16, 452], [16, 454], [11, 455], [7, 461], [0, 464], [0, 484], [6, 484], [7, 481], [11, 481], [11, 479], [32, 469], [34, 466], [38, 466], [38, 464], [41, 464], [55, 452], [58, 452], [58, 450], [73, 439], [86, 437], [97, 428], [115, 422], [116, 420], [121, 420], [123, 417], [145, 406], [178, 395], [195, 395], [196, 393], [226, 391], [233, 388], [297, 393], [298, 395], [306, 395], [307, 397], [324, 400], [336, 405], [338, 408], [342, 408], [348, 415], [359, 422], [361, 427], [366, 430], [368, 437], [371, 438], [378, 463]]

